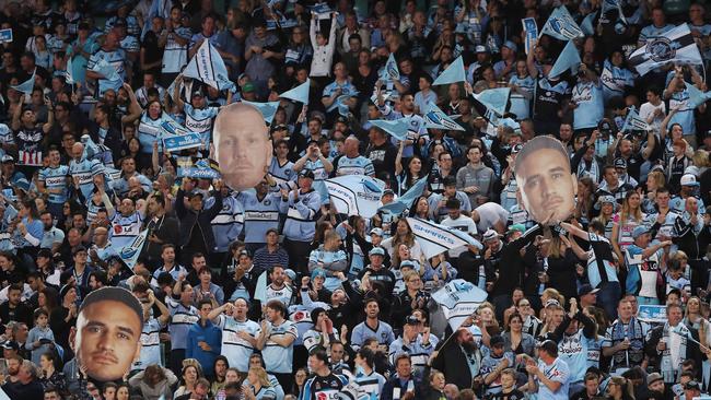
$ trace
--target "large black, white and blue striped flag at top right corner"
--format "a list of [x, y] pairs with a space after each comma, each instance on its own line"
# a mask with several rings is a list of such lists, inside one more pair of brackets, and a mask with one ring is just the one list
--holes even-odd
[[699, 47], [693, 42], [689, 25], [683, 24], [664, 36], [649, 40], [638, 48], [629, 58], [629, 64], [637, 69], [640, 75], [671, 62], [701, 64]]

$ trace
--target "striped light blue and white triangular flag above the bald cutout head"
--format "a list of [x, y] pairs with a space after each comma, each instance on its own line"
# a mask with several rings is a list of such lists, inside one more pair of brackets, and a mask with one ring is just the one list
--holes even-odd
[[234, 91], [235, 85], [228, 77], [228, 67], [218, 50], [210, 44], [210, 40], [203, 40], [198, 51], [183, 70], [183, 75], [197, 79], [218, 91]]

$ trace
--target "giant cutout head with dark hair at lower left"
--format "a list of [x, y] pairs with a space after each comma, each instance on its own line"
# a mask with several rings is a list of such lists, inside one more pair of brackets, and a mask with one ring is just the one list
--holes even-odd
[[106, 286], [84, 298], [69, 342], [90, 379], [119, 380], [139, 360], [142, 328], [139, 299], [125, 289]]

